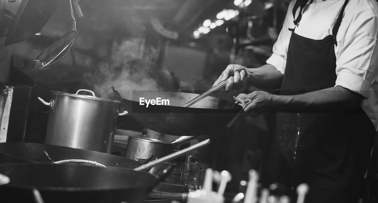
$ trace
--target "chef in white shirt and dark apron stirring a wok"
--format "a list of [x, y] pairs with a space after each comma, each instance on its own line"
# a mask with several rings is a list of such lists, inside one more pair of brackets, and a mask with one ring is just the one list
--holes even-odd
[[306, 203], [356, 203], [378, 127], [378, 3], [293, 0], [273, 54], [260, 68], [229, 65], [214, 85], [250, 83], [251, 116], [277, 111], [268, 178]]

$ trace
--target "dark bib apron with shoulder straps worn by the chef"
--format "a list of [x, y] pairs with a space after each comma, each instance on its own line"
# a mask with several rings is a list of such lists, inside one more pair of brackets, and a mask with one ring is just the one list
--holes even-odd
[[[301, 20], [308, 0], [297, 0], [294, 24]], [[335, 86], [336, 34], [348, 0], [332, 30], [321, 40], [292, 31], [281, 95], [296, 95]], [[330, 19], [332, 20], [332, 19]], [[296, 187], [307, 183], [305, 203], [356, 203], [373, 146], [375, 128], [361, 107], [351, 112], [277, 112], [276, 132], [269, 160], [269, 181], [289, 187], [296, 201]]]

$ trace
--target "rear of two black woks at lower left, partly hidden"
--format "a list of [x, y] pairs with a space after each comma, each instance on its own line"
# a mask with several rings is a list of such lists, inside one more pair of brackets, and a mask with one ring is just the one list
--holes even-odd
[[0, 143], [0, 163], [53, 163], [53, 161], [68, 159], [90, 160], [105, 166], [119, 166], [124, 168], [136, 168], [142, 165], [138, 161], [129, 158], [84, 149], [38, 143]]

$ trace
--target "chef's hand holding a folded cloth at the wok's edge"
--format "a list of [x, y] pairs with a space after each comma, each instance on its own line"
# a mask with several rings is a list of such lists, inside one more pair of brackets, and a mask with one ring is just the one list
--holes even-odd
[[244, 99], [251, 99], [251, 103], [245, 106], [244, 111], [251, 117], [274, 111], [274, 95], [264, 91], [254, 91], [244, 95]]

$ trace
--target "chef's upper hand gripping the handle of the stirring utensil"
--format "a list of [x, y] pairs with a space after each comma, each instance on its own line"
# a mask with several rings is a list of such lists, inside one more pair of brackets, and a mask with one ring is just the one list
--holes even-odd
[[218, 85], [218, 83], [225, 80], [227, 80], [225, 91], [229, 92], [232, 89], [240, 89], [244, 87], [248, 83], [249, 74], [245, 67], [230, 64], [218, 77], [218, 80], [215, 81], [213, 86]]

